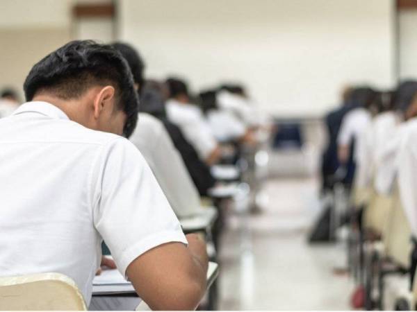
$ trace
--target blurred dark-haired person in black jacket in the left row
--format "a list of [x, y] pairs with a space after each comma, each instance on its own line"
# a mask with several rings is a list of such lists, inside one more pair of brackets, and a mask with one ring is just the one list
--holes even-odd
[[208, 190], [215, 186], [216, 180], [211, 175], [207, 164], [199, 158], [195, 148], [183, 136], [181, 129], [167, 119], [165, 111], [166, 101], [167, 92], [163, 83], [156, 81], [147, 81], [145, 83], [140, 98], [140, 110], [152, 114], [163, 123], [175, 148], [177, 148], [184, 164], [186, 164], [188, 173], [190, 173], [199, 195], [208, 196]]

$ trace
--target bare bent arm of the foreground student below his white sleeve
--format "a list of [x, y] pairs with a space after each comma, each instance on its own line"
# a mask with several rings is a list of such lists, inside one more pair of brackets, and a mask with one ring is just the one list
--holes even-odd
[[206, 291], [208, 257], [197, 236], [158, 246], [136, 258], [126, 273], [152, 310], [194, 310]]

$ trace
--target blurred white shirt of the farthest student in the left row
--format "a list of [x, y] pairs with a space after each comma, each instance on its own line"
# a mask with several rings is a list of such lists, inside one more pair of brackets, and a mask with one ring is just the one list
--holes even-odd
[[223, 90], [217, 94], [216, 99], [222, 110], [234, 113], [245, 125], [252, 127], [261, 123], [259, 113], [243, 96]]

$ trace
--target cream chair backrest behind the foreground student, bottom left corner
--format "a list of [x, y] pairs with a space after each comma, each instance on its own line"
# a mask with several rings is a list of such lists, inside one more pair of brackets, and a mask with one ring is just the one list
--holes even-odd
[[86, 311], [74, 281], [59, 273], [0, 277], [0, 310]]

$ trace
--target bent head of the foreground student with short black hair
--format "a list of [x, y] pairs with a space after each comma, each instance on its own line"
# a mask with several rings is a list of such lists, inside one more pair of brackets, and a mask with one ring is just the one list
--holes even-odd
[[129, 137], [138, 119], [138, 96], [126, 60], [112, 46], [91, 40], [65, 44], [33, 66], [26, 101], [47, 101], [93, 130]]

